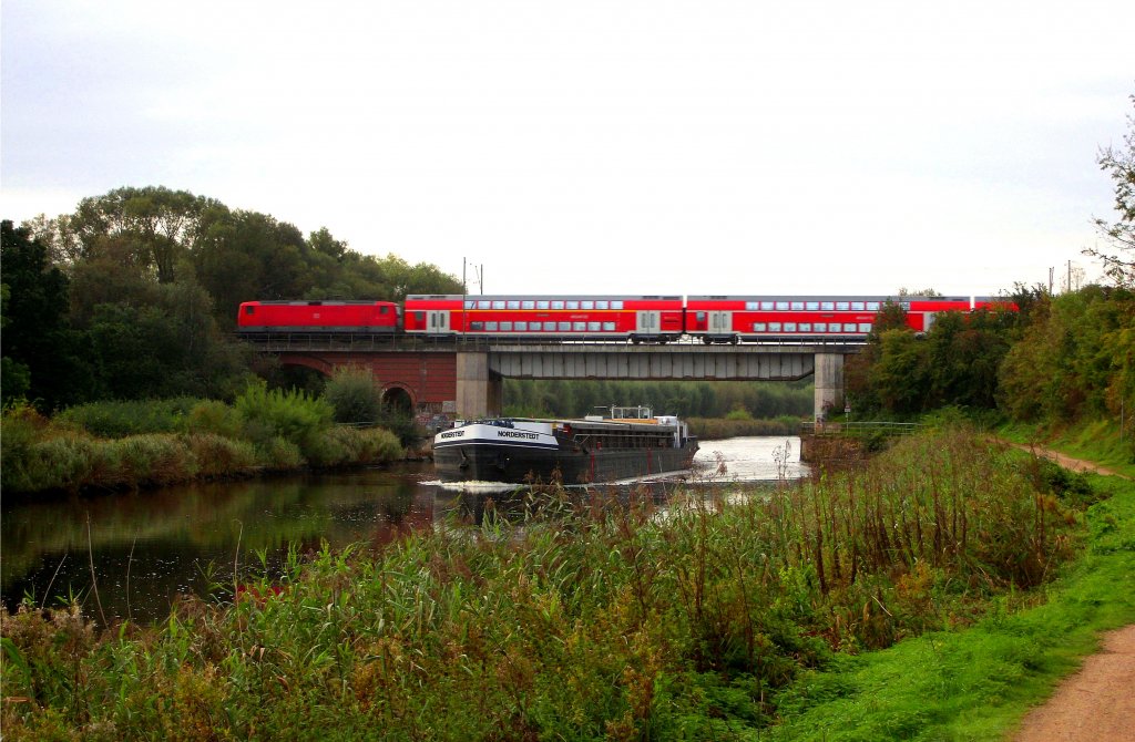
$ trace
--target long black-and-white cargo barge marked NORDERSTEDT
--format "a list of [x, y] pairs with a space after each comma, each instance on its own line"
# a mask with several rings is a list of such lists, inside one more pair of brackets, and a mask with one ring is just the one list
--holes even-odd
[[443, 481], [583, 484], [688, 470], [697, 450], [678, 418], [612, 407], [581, 420], [469, 422], [434, 437], [434, 465]]

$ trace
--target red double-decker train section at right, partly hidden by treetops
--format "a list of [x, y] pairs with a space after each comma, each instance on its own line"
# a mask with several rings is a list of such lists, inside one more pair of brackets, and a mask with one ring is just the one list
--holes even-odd
[[690, 296], [686, 334], [704, 343], [863, 339], [888, 302], [902, 306], [907, 324], [924, 332], [938, 312], [992, 309], [989, 297], [941, 296]]

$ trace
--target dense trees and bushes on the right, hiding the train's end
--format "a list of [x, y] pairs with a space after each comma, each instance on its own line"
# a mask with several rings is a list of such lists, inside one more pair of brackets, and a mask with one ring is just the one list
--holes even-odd
[[1018, 312], [942, 314], [924, 336], [888, 307], [847, 364], [857, 413], [902, 418], [953, 405], [1020, 422], [1135, 428], [1135, 117], [1128, 124], [1124, 145], [1098, 158], [1115, 184], [1117, 217], [1094, 219], [1100, 242], [1084, 251], [1102, 261], [1109, 285], [1053, 295], [1018, 284]]

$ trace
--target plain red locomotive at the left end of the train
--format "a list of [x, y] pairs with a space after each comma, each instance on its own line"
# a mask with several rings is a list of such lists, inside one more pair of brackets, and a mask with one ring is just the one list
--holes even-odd
[[292, 301], [244, 302], [237, 313], [242, 335], [274, 332], [394, 334], [398, 331], [394, 302]]

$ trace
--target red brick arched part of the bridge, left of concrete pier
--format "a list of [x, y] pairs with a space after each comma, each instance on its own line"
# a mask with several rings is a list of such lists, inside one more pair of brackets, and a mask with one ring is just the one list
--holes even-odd
[[382, 400], [409, 398], [413, 410], [440, 411], [457, 397], [454, 353], [279, 353], [284, 365], [301, 365], [330, 377], [336, 369], [368, 369], [381, 385]]

